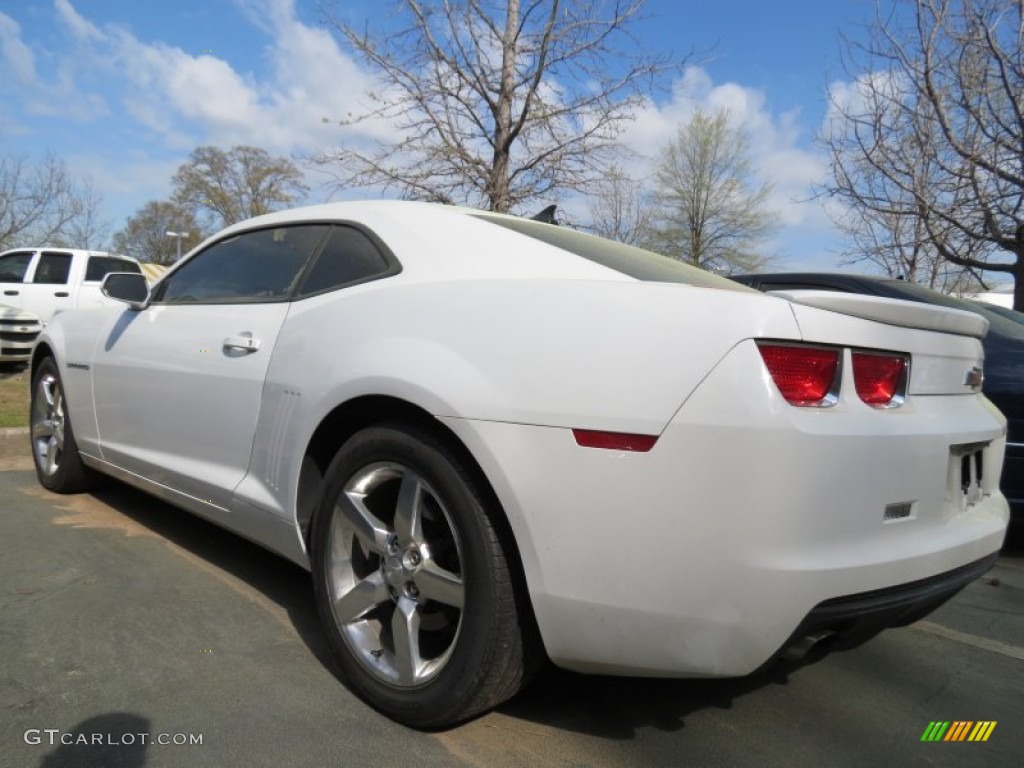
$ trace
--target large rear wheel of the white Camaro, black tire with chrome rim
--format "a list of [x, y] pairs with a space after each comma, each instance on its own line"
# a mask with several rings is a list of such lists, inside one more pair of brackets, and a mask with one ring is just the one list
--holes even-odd
[[406, 425], [358, 432], [327, 470], [312, 531], [317, 609], [351, 687], [406, 725], [471, 718], [534, 669], [531, 615], [488, 498], [456, 452]]

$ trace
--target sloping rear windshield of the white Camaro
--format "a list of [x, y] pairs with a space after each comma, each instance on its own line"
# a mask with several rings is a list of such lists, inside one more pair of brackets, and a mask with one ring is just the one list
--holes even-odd
[[[581, 256], [601, 266], [646, 283], [682, 283], [687, 286], [721, 288], [728, 291], [753, 291], [727, 278], [721, 278], [682, 261], [660, 256], [642, 248], [615, 243], [593, 234], [567, 229], [541, 221], [487, 213], [471, 214], [492, 224], [525, 234], [549, 246]], [[756, 293], [756, 292], [755, 292]]]

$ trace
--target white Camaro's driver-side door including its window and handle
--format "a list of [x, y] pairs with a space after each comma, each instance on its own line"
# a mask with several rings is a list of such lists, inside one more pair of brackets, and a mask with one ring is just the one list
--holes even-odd
[[228, 506], [289, 302], [327, 229], [228, 237], [165, 279], [145, 309], [112, 315], [91, 362], [104, 461]]

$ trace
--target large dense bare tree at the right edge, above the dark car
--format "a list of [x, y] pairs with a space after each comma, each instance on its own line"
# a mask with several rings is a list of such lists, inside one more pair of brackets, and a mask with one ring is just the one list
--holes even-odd
[[[826, 191], [952, 264], [1015, 279], [1024, 309], [1024, 3], [895, 0], [846, 41]], [[910, 220], [911, 223], [906, 223]], [[884, 238], [880, 239], [884, 242]], [[890, 256], [898, 244], [890, 243]]]

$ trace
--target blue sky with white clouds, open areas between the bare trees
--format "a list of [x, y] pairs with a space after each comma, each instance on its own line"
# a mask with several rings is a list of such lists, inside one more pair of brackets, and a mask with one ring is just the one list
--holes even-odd
[[[328, 7], [360, 24], [388, 12], [387, 0]], [[856, 33], [870, 11], [863, 0], [648, 0], [634, 30], [644, 49], [708, 53], [638, 113], [625, 140], [649, 157], [695, 109], [728, 109], [775, 186], [778, 266], [834, 268], [827, 217], [799, 201], [824, 170], [813, 138], [827, 88], [844, 78], [839, 31]], [[117, 229], [167, 197], [197, 145], [289, 156], [330, 146], [341, 129], [324, 118], [354, 109], [371, 79], [323, 20], [314, 0], [0, 0], [2, 152], [63, 158], [91, 178]], [[390, 127], [362, 130], [379, 138]], [[326, 199], [310, 181], [309, 202]]]

